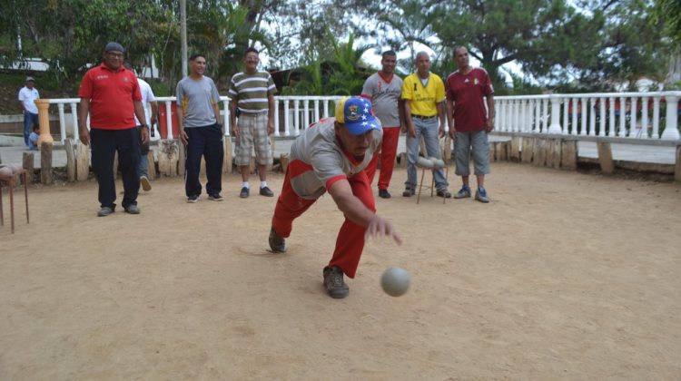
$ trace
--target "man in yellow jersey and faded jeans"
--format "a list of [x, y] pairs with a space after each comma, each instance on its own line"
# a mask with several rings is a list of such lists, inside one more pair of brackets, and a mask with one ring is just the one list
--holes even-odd
[[[419, 159], [419, 142], [423, 136], [429, 157], [440, 158], [439, 138], [445, 134], [445, 85], [442, 79], [430, 73], [430, 57], [426, 52], [416, 54], [416, 73], [404, 79], [402, 85], [404, 119], [407, 124], [407, 181], [404, 197], [416, 193], [416, 161]], [[434, 169], [438, 196], [450, 198], [447, 180], [442, 169]]]

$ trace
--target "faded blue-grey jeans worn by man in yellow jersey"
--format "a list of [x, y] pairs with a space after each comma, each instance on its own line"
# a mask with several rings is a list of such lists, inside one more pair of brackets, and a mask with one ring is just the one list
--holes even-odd
[[[415, 137], [407, 136], [407, 181], [404, 185], [407, 189], [415, 190], [417, 185], [417, 171], [416, 171], [416, 161], [419, 160], [419, 142], [421, 136], [426, 142], [426, 153], [428, 157], [436, 157], [438, 159], [442, 158], [439, 152], [439, 124], [438, 117], [430, 119], [418, 119], [412, 118], [414, 123], [414, 131], [416, 132]], [[449, 185], [445, 180], [444, 171], [442, 169], [433, 170], [433, 176], [435, 177], [435, 188], [437, 190], [447, 190]]]

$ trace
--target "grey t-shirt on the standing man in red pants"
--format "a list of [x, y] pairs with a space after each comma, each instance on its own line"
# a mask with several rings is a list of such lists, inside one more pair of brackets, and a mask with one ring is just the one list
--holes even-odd
[[373, 112], [383, 127], [400, 127], [398, 101], [402, 93], [402, 80], [392, 74], [390, 82], [380, 73], [374, 73], [364, 83], [361, 95], [371, 100]]

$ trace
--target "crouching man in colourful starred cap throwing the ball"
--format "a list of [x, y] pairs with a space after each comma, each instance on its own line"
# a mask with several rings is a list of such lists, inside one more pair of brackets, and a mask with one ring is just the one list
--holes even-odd
[[401, 242], [390, 222], [376, 215], [376, 201], [364, 171], [380, 146], [381, 135], [369, 101], [343, 98], [336, 103], [335, 118], [312, 124], [291, 146], [291, 162], [271, 219], [270, 249], [285, 252], [293, 220], [328, 191], [345, 216], [336, 249], [322, 272], [331, 298], [349, 295], [343, 275], [355, 278], [365, 239], [387, 236]]

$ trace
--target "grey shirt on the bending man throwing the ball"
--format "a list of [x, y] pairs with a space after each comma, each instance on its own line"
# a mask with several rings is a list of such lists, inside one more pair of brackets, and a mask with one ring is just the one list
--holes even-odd
[[383, 131], [373, 130], [373, 142], [362, 160], [349, 157], [336, 141], [335, 121], [327, 118], [312, 124], [291, 145], [291, 187], [302, 199], [318, 199], [334, 181], [363, 171], [380, 148]]

